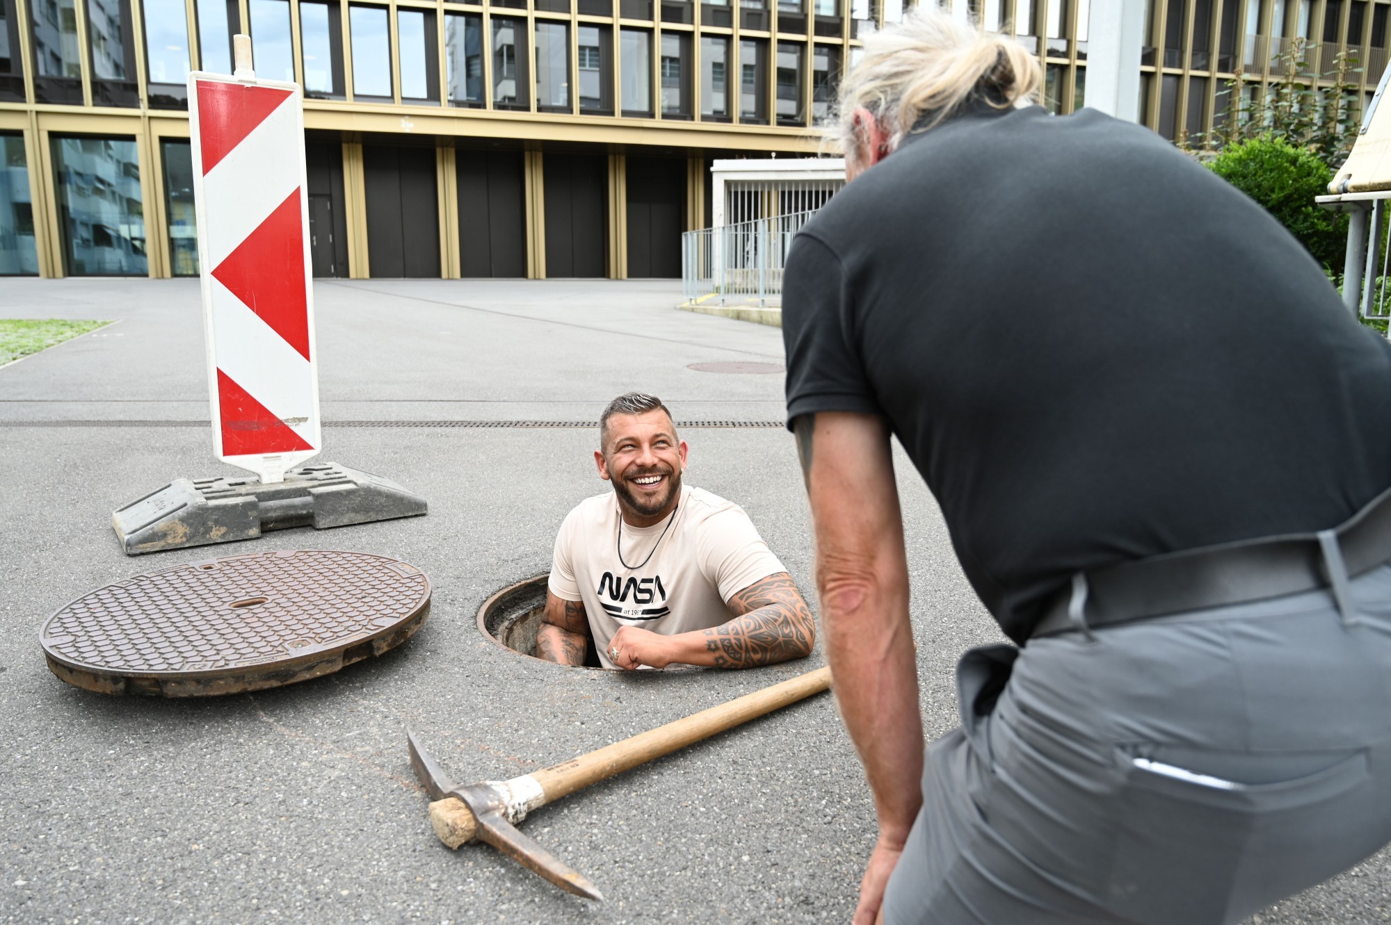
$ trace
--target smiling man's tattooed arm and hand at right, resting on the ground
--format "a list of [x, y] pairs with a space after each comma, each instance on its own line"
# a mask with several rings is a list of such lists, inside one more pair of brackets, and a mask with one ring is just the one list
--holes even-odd
[[675, 636], [625, 626], [613, 636], [618, 664], [755, 668], [805, 658], [817, 643], [817, 621], [787, 572], [762, 578], [736, 593], [729, 608], [734, 618], [727, 624]]

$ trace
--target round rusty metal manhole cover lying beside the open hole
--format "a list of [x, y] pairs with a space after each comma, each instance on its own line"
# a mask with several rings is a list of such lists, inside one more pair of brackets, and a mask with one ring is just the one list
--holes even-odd
[[415, 565], [334, 550], [255, 553], [136, 575], [40, 631], [54, 675], [100, 693], [278, 688], [399, 646], [430, 612]]

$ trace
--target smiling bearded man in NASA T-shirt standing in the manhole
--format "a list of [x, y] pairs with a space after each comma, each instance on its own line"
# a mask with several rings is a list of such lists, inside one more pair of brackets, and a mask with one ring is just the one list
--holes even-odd
[[682, 483], [686, 443], [661, 399], [600, 418], [600, 478], [555, 539], [536, 654], [605, 668], [751, 668], [811, 653], [811, 610], [741, 507]]

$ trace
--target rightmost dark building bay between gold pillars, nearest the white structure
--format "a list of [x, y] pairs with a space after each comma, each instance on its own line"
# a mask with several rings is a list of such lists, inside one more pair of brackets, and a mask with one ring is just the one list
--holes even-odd
[[679, 278], [686, 211], [686, 161], [627, 158], [627, 275]]

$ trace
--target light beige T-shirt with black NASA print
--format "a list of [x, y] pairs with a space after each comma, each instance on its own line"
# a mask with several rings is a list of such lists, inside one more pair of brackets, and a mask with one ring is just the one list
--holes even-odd
[[676, 512], [652, 526], [623, 524], [623, 561], [634, 568], [619, 561], [619, 517], [612, 492], [580, 501], [561, 525], [551, 565], [551, 593], [584, 601], [605, 668], [613, 668], [608, 650], [619, 626], [664, 636], [709, 629], [733, 618], [725, 601], [787, 571], [744, 508], [704, 489], [683, 485]]

